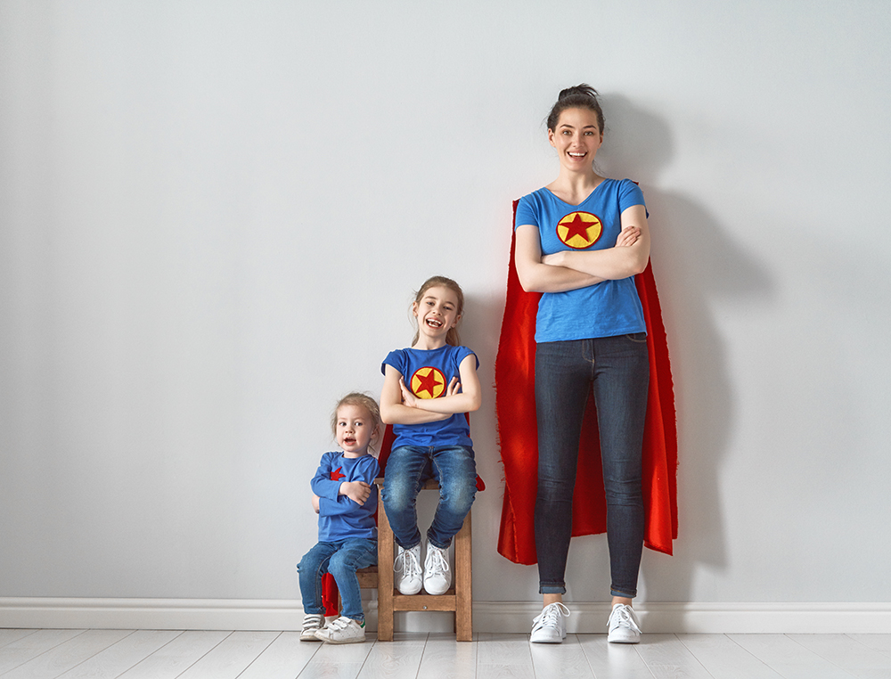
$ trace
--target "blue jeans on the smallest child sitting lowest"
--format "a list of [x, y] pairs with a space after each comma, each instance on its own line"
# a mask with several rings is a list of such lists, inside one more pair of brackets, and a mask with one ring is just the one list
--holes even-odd
[[333, 543], [318, 543], [304, 554], [298, 564], [300, 594], [306, 615], [324, 615], [322, 576], [331, 573], [340, 592], [340, 615], [364, 621], [362, 593], [356, 570], [378, 562], [378, 542], [364, 537], [351, 537]]

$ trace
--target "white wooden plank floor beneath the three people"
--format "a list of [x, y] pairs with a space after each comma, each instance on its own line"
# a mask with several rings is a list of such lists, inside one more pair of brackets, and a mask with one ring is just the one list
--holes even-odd
[[638, 646], [570, 634], [397, 634], [395, 642], [301, 643], [294, 632], [0, 629], [0, 678], [576, 679], [891, 678], [891, 634], [645, 634]]

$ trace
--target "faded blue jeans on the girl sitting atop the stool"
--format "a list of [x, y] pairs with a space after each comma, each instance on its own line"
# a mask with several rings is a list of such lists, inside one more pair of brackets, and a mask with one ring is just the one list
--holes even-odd
[[390, 452], [380, 499], [396, 544], [411, 549], [421, 542], [415, 500], [427, 479], [439, 483], [439, 504], [427, 540], [446, 549], [461, 530], [477, 495], [477, 464], [468, 446], [399, 446]]

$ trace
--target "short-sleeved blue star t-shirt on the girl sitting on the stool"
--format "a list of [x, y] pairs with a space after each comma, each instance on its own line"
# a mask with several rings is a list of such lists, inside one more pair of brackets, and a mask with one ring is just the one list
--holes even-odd
[[[446, 396], [446, 389], [453, 377], [461, 380], [459, 366], [467, 356], [473, 356], [479, 367], [477, 356], [467, 347], [446, 344], [437, 349], [396, 349], [380, 364], [380, 372], [386, 374], [386, 366], [392, 365], [405, 378], [405, 386], [416, 397], [439, 398]], [[464, 413], [454, 413], [446, 420], [426, 424], [394, 424], [393, 434], [396, 436], [394, 448], [473, 446], [470, 425]]]

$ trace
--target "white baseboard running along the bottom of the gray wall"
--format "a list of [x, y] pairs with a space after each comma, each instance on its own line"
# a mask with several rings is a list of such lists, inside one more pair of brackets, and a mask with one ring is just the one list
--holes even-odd
[[[366, 601], [372, 630], [376, 604]], [[569, 608], [568, 632], [604, 632], [609, 604]], [[653, 634], [891, 634], [891, 603], [640, 603], [634, 609]], [[475, 601], [473, 628], [526, 634], [540, 611], [536, 602]], [[397, 629], [402, 623], [428, 631], [427, 617], [433, 622], [425, 613], [400, 617]], [[296, 630], [302, 621], [300, 601], [289, 600], [0, 598], [0, 627], [7, 628]]]

